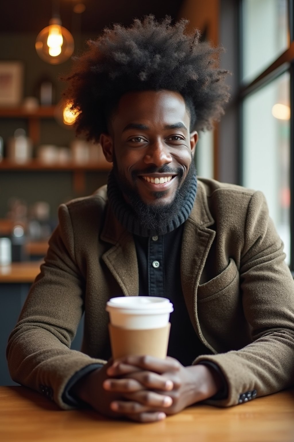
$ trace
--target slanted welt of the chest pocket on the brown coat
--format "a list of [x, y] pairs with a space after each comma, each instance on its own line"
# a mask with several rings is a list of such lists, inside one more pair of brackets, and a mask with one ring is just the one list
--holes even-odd
[[237, 274], [236, 263], [234, 259], [230, 258], [228, 266], [222, 273], [204, 284], [199, 284], [197, 302], [204, 302], [219, 296], [223, 290], [227, 289], [234, 282]]

